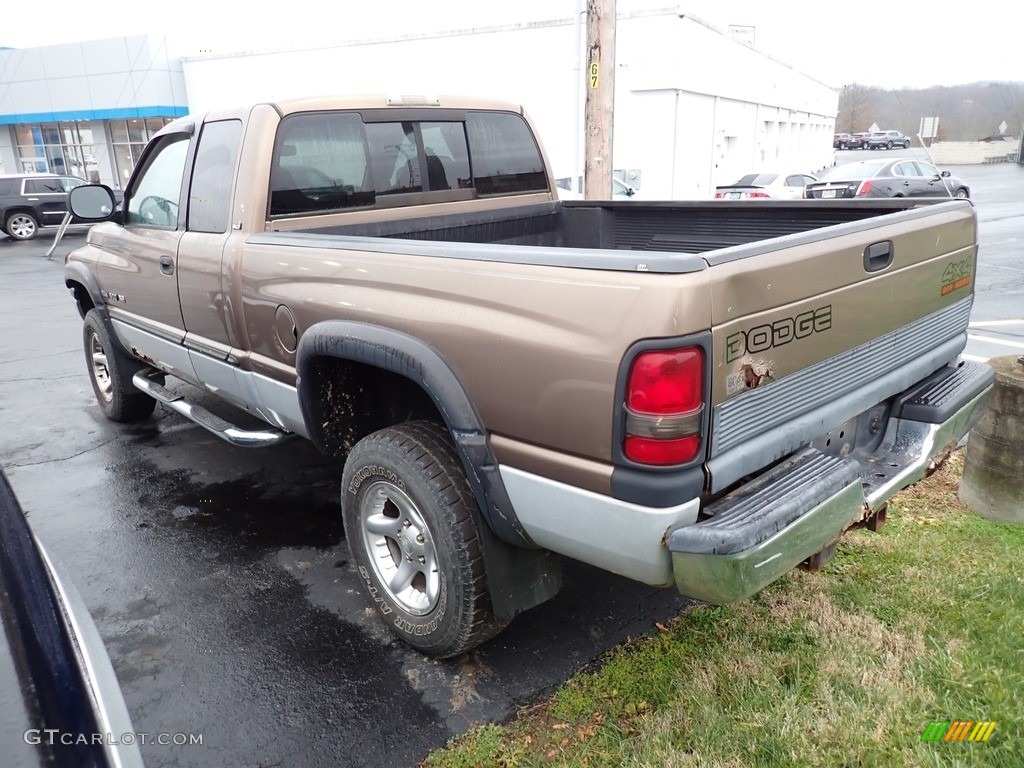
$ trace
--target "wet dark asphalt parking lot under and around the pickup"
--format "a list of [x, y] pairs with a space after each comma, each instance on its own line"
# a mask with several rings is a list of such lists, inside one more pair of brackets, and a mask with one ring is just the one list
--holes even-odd
[[[957, 172], [981, 221], [975, 316], [1021, 318], [1024, 167]], [[47, 260], [49, 232], [0, 236], [0, 466], [91, 610], [135, 730], [202, 736], [143, 745], [147, 766], [413, 766], [687, 604], [566, 561], [561, 593], [476, 651], [410, 650], [349, 565], [337, 462], [302, 440], [232, 447], [159, 408], [137, 426], [103, 418], [62, 283], [83, 242]], [[1024, 351], [1024, 322], [986, 333]]]

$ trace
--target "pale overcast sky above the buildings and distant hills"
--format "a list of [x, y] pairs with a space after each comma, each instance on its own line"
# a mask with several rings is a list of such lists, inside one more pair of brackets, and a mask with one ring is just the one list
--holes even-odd
[[[833, 86], [887, 88], [979, 80], [1024, 82], [1024, 3], [876, 0], [618, 0], [618, 12], [678, 7], [725, 30], [755, 27], [755, 47]], [[26, 48], [164, 34], [180, 55], [302, 47], [417, 32], [566, 18], [586, 0], [47, 0], [0, 25], [0, 46]], [[269, 10], [267, 10], [269, 8]], [[844, 12], [849, 11], [849, 12]], [[544, 55], [524, 51], [524, 55]], [[510, 66], [514, 66], [511, 62]], [[709, 67], [728, 68], [726, 61]], [[737, 72], [738, 77], [742, 73]], [[354, 87], [354, 86], [353, 86]], [[354, 88], [357, 90], [357, 87]]]

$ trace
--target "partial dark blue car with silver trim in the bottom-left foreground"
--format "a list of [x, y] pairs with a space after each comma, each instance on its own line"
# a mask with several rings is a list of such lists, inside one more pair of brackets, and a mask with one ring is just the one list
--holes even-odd
[[133, 730], [95, 626], [54, 572], [2, 471], [0, 615], [0, 763], [141, 766], [137, 745], [112, 743]]

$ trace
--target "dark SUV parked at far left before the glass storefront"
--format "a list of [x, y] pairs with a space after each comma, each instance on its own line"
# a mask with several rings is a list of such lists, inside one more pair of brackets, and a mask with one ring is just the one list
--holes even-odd
[[84, 183], [55, 174], [0, 176], [0, 231], [14, 240], [32, 240], [41, 226], [59, 226], [68, 212], [68, 193]]

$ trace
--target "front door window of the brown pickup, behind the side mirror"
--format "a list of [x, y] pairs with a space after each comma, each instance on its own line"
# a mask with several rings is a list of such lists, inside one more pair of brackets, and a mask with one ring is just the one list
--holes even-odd
[[146, 153], [128, 198], [126, 223], [174, 229], [181, 207], [181, 179], [188, 153], [188, 136], [164, 136]]

